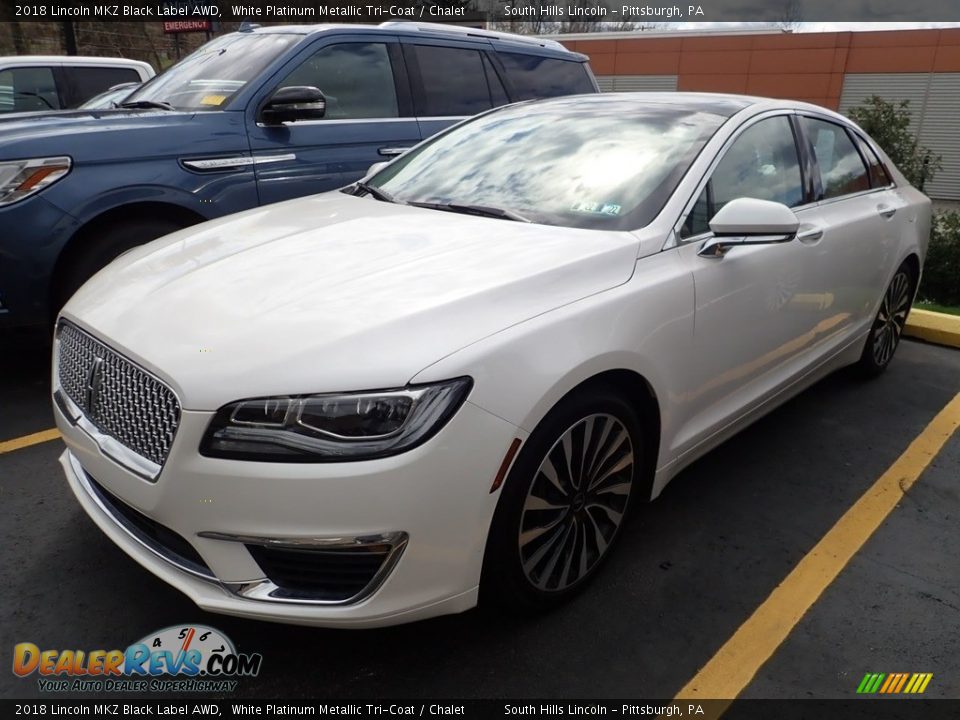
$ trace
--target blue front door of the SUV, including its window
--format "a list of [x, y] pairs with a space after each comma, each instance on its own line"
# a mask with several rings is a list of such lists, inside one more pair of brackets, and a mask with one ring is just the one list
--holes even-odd
[[[325, 117], [279, 127], [259, 122], [269, 96], [294, 85], [323, 92]], [[420, 141], [399, 41], [381, 33], [321, 38], [267, 83], [252, 105], [247, 122], [261, 204], [348, 185], [374, 163]]]

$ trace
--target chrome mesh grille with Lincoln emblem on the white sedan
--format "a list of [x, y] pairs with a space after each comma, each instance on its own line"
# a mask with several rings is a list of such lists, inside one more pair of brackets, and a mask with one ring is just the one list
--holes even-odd
[[[173, 391], [69, 323], [60, 323], [57, 338], [57, 376], [63, 392], [100, 432], [163, 465], [180, 423], [180, 402]], [[91, 377], [98, 359], [99, 369]]]

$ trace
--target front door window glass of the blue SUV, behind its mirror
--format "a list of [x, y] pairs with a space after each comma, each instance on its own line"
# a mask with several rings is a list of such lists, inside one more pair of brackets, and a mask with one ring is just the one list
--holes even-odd
[[278, 85], [310, 85], [327, 99], [330, 120], [397, 117], [397, 88], [385, 43], [328, 45]]

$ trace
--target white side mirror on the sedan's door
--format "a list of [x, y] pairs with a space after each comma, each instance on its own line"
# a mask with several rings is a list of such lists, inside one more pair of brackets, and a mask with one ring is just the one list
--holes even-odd
[[737, 245], [770, 245], [796, 237], [800, 220], [786, 205], [755, 198], [737, 198], [710, 221], [713, 237], [700, 248], [703, 257], [723, 257]]

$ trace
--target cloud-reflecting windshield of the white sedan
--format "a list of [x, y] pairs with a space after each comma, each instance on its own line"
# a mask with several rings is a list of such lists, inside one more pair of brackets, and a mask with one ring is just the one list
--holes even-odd
[[547, 225], [633, 230], [656, 217], [725, 120], [609, 96], [512, 105], [437, 136], [368, 184], [399, 202], [483, 206]]

